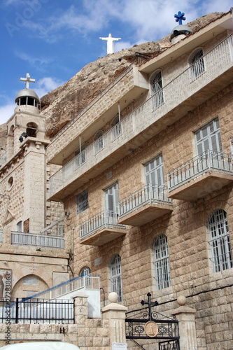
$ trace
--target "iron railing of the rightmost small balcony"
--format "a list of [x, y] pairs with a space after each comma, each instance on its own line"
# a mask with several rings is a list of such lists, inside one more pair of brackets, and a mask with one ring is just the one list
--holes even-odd
[[197, 155], [167, 173], [168, 190], [174, 190], [211, 170], [232, 174], [232, 156], [209, 150]]

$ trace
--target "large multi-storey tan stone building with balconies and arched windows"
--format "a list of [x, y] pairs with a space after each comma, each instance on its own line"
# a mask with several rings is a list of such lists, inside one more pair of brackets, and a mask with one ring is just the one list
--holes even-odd
[[100, 274], [130, 311], [151, 293], [171, 316], [185, 295], [192, 349], [233, 344], [232, 29], [230, 12], [178, 25], [170, 48], [130, 65], [47, 146], [75, 274]]

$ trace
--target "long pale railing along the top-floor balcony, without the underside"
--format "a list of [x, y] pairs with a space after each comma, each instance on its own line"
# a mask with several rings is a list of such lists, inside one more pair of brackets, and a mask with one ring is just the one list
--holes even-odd
[[[150, 99], [123, 118], [120, 123], [103, 134], [103, 147], [99, 149], [98, 153], [94, 142], [83, 151], [85, 157], [80, 153], [53, 174], [49, 180], [49, 196], [52, 197], [59, 190], [68, 186], [69, 183], [78, 179], [79, 176], [85, 174], [85, 172], [104, 160], [108, 155], [127, 144], [136, 135], [153, 125], [157, 120], [160, 120], [162, 116], [230, 69], [233, 66], [232, 51], [233, 40], [231, 34], [206, 53], [199, 61], [192, 64], [174, 80], [171, 80], [170, 83], [158, 90], [153, 97], [150, 97]], [[201, 71], [200, 66], [202, 66]], [[195, 78], [194, 71], [196, 72]]]

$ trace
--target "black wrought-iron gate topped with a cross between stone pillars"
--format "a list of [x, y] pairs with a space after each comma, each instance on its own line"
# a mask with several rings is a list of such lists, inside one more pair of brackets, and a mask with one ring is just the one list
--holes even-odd
[[[141, 301], [146, 307], [127, 312], [125, 318], [126, 338], [131, 339], [144, 349], [136, 339], [156, 339], [159, 344], [159, 350], [180, 350], [178, 321], [176, 317], [167, 317], [160, 312], [153, 310], [158, 302], [150, 300], [151, 294], [148, 293], [148, 301]], [[159, 342], [163, 340], [163, 342]]]

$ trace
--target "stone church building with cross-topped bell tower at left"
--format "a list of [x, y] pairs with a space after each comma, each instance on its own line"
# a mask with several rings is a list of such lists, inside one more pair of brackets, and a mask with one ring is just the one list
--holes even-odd
[[28, 297], [69, 279], [63, 206], [46, 201], [52, 168], [46, 165], [50, 141], [45, 138], [45, 116], [37, 94], [29, 89], [33, 80], [29, 74], [22, 80], [26, 88], [15, 98], [1, 155], [1, 297], [6, 296], [9, 273], [12, 297]]

